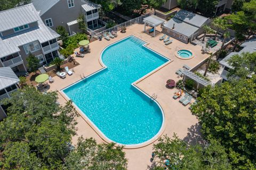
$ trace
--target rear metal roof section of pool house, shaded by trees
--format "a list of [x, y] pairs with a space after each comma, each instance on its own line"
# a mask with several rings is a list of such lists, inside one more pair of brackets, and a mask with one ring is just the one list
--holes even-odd
[[201, 28], [204, 25], [204, 23], [208, 20], [208, 18], [205, 18], [201, 15], [186, 10], [178, 11], [175, 14], [174, 18], [177, 18], [183, 22], [189, 23], [190, 25], [193, 25], [198, 28]]

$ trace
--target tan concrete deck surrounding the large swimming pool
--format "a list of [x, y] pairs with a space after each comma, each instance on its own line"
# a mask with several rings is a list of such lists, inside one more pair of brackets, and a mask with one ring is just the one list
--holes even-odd
[[[173, 133], [177, 133], [180, 139], [193, 140], [191, 136], [197, 132], [194, 126], [197, 125], [197, 119], [191, 115], [189, 106], [184, 107], [179, 100], [172, 99], [174, 92], [177, 89], [168, 89], [165, 87], [167, 79], [174, 79], [178, 81], [181, 79], [175, 74], [175, 71], [182, 68], [183, 64], [187, 64], [190, 67], [196, 66], [199, 62], [206, 59], [209, 55], [202, 54], [201, 46], [185, 44], [177, 39], [173, 39], [173, 42], [169, 45], [164, 45], [163, 41], [159, 41], [159, 37], [163, 34], [159, 34], [156, 37], [151, 37], [148, 34], [143, 33], [144, 25], [133, 25], [126, 29], [126, 33], [119, 33], [118, 37], [110, 39], [102, 39], [102, 41], [95, 41], [90, 43], [91, 53], [85, 54], [84, 58], [75, 58], [80, 63], [79, 66], [74, 68], [72, 76], [68, 76], [65, 79], [61, 79], [57, 76], [54, 77], [55, 82], [50, 84], [50, 91], [65, 88], [78, 80], [81, 79], [81, 75], [89, 76], [93, 72], [102, 69], [100, 63], [100, 54], [102, 50], [108, 45], [119, 41], [127, 36], [134, 35], [135, 37], [141, 38], [147, 42], [147, 46], [152, 50], [166, 56], [172, 60], [161, 67], [159, 70], [152, 72], [151, 74], [141, 78], [134, 83], [135, 86], [139, 87], [142, 91], [148, 95], [157, 94], [156, 99], [164, 110], [165, 114], [165, 125], [162, 134], [172, 136]], [[160, 30], [158, 28], [158, 30]], [[191, 50], [195, 54], [195, 57], [190, 60], [182, 60], [177, 58], [174, 53], [177, 49]], [[66, 99], [62, 92], [59, 92], [59, 102], [61, 104], [66, 102]], [[73, 137], [73, 143], [76, 144], [79, 136], [93, 137], [97, 142], [105, 142], [102, 140], [102, 136], [98, 135], [97, 129], [93, 128], [89, 121], [85, 121], [83, 116], [77, 117], [77, 135]], [[156, 141], [154, 142], [156, 143]], [[152, 152], [153, 144], [149, 144], [146, 147], [138, 149], [124, 149], [126, 152], [126, 158], [128, 159], [128, 169], [148, 169], [151, 165], [150, 157]]]

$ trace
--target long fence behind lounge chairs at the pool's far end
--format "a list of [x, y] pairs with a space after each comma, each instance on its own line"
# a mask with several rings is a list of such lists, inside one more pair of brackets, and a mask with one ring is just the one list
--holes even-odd
[[129, 27], [129, 26], [132, 26], [136, 23], [142, 23], [143, 22], [143, 19], [146, 18], [146, 17], [149, 17], [151, 14], [145, 14], [143, 16], [140, 16], [140, 17], [137, 17], [137, 18], [134, 18], [134, 19], [131, 19], [129, 21], [126, 21], [126, 22], [123, 22], [119, 25], [116, 25], [114, 27], [111, 27], [111, 28], [108, 28], [108, 29], [105, 29], [105, 30], [102, 30], [100, 32], [96, 32], [96, 31], [91, 31], [91, 35], [92, 37], [95, 37], [95, 38], [98, 38], [98, 35], [102, 35], [103, 33], [108, 33], [109, 31], [119, 31], [121, 30], [122, 27]]

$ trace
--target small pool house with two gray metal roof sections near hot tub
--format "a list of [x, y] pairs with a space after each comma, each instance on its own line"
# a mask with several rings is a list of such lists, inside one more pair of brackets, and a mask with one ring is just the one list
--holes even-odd
[[209, 18], [186, 10], [180, 10], [163, 25], [162, 31], [183, 43], [189, 43], [203, 33], [202, 27], [209, 22]]

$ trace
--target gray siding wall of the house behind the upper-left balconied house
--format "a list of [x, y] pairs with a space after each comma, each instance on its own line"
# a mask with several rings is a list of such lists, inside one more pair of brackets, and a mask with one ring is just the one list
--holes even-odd
[[41, 18], [45, 23], [45, 19], [52, 19], [53, 27], [56, 29], [57, 26], [63, 26], [68, 30], [67, 22], [74, 21], [78, 18], [79, 13], [82, 13], [82, 2], [81, 0], [74, 0], [74, 7], [68, 8], [68, 1], [61, 0], [55, 4], [50, 10], [45, 12]]

